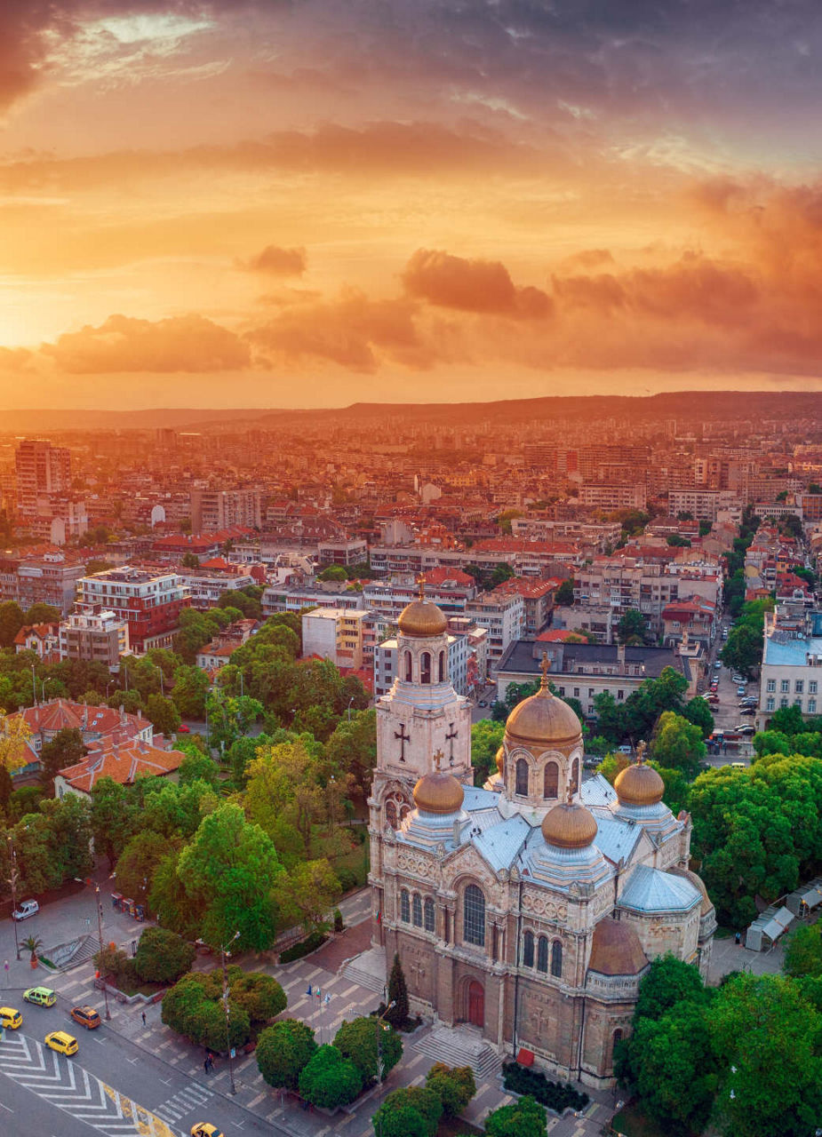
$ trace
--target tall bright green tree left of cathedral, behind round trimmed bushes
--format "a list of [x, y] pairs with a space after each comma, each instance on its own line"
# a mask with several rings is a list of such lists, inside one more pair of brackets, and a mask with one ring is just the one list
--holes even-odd
[[274, 941], [272, 889], [282, 871], [271, 838], [232, 803], [204, 818], [177, 864], [186, 893], [202, 904], [202, 938], [218, 947], [239, 931], [236, 951]]

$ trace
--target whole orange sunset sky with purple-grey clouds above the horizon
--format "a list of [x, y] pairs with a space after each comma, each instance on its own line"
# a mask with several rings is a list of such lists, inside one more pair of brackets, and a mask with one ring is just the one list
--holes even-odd
[[0, 0], [0, 406], [822, 387], [819, 0]]

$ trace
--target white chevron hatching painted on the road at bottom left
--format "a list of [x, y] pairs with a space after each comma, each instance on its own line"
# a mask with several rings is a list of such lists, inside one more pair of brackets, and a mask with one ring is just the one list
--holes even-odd
[[153, 1113], [19, 1031], [0, 1045], [0, 1073], [103, 1137], [175, 1137]]

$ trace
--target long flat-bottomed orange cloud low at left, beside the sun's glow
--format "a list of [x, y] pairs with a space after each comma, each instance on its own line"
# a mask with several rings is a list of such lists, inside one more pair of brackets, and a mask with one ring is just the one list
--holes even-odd
[[63, 371], [88, 375], [107, 372], [210, 372], [248, 367], [248, 345], [205, 316], [172, 316], [152, 323], [109, 316], [100, 327], [67, 332], [42, 352]]

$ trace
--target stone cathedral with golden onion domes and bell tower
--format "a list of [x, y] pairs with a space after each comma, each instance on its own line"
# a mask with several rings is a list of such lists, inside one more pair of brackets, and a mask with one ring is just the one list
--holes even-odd
[[376, 702], [370, 798], [374, 946], [399, 953], [412, 1010], [470, 1023], [500, 1054], [613, 1084], [639, 982], [665, 952], [705, 974], [714, 907], [688, 868], [690, 818], [638, 761], [582, 780], [580, 721], [548, 683], [508, 716], [497, 772], [473, 785], [472, 704], [448, 681], [447, 621], [399, 617]]

